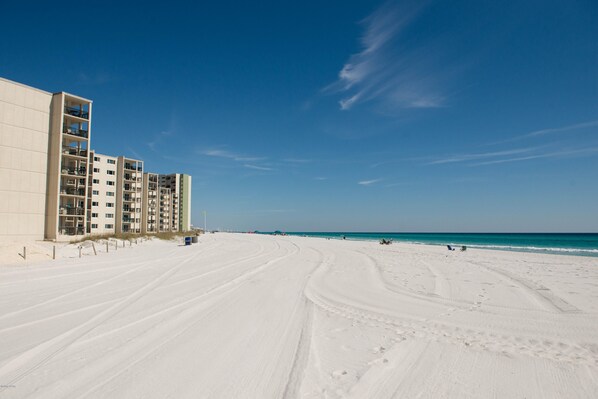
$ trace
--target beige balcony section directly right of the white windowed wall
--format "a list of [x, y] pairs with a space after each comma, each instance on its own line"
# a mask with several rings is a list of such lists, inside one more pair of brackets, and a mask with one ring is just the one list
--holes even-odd
[[143, 161], [118, 157], [116, 233], [141, 233]]

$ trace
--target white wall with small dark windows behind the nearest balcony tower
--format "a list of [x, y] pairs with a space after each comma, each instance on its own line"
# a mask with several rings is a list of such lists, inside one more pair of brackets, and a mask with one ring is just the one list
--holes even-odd
[[115, 232], [117, 161], [116, 157], [90, 152], [87, 195], [87, 232], [90, 234]]

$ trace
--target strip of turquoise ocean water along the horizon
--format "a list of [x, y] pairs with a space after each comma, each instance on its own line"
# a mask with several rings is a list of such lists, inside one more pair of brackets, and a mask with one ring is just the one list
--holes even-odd
[[598, 256], [598, 233], [351, 233], [293, 232], [289, 235], [347, 240], [379, 241], [433, 245], [466, 245], [468, 248]]

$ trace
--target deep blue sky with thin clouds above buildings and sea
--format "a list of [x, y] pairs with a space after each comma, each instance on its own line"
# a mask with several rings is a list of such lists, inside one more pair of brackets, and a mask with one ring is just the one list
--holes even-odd
[[595, 1], [89, 3], [3, 3], [0, 76], [191, 174], [196, 225], [598, 231]]

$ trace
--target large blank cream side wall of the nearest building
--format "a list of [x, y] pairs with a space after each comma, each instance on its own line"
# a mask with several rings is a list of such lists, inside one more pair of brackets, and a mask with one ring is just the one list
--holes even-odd
[[0, 241], [44, 238], [51, 103], [0, 78]]

